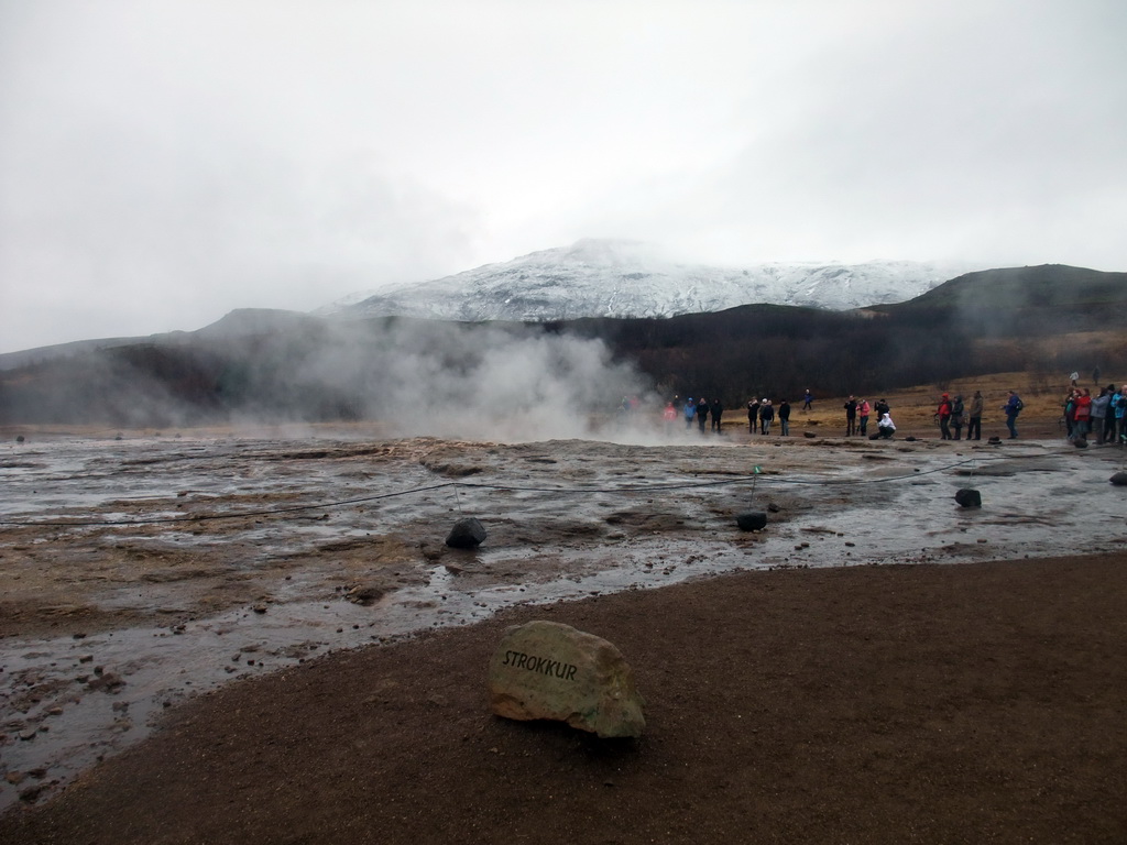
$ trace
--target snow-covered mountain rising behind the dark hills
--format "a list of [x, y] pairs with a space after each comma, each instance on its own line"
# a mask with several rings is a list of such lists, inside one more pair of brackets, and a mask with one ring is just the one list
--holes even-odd
[[453, 276], [353, 294], [318, 314], [544, 322], [674, 317], [771, 303], [844, 311], [904, 302], [973, 269], [955, 261], [709, 267], [633, 241], [580, 240]]

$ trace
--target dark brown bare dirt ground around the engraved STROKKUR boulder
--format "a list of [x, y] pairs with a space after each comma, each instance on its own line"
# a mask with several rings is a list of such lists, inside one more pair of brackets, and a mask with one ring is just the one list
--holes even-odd
[[[1127, 553], [523, 607], [203, 696], [0, 842], [1122, 843], [1125, 606]], [[530, 619], [619, 646], [640, 740], [489, 714]]]

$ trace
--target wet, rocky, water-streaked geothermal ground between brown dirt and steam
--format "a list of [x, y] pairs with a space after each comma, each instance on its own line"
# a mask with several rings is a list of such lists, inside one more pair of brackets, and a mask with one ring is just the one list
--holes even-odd
[[[232, 678], [514, 604], [740, 569], [1113, 551], [1119, 448], [378, 430], [54, 435], [0, 451], [0, 809]], [[960, 508], [959, 488], [980, 491]], [[736, 516], [767, 514], [762, 532]], [[449, 549], [455, 521], [488, 536]]]

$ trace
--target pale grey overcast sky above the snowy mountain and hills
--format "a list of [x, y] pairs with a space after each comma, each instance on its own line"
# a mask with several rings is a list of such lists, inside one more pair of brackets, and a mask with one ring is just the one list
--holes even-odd
[[568, 244], [1127, 270], [1124, 0], [0, 0], [0, 352]]

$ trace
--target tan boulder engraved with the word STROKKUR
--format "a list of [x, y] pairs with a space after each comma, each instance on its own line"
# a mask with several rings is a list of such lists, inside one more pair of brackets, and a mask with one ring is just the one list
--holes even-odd
[[606, 640], [559, 622], [505, 631], [489, 661], [492, 712], [549, 719], [603, 738], [640, 737], [645, 701], [633, 670]]

